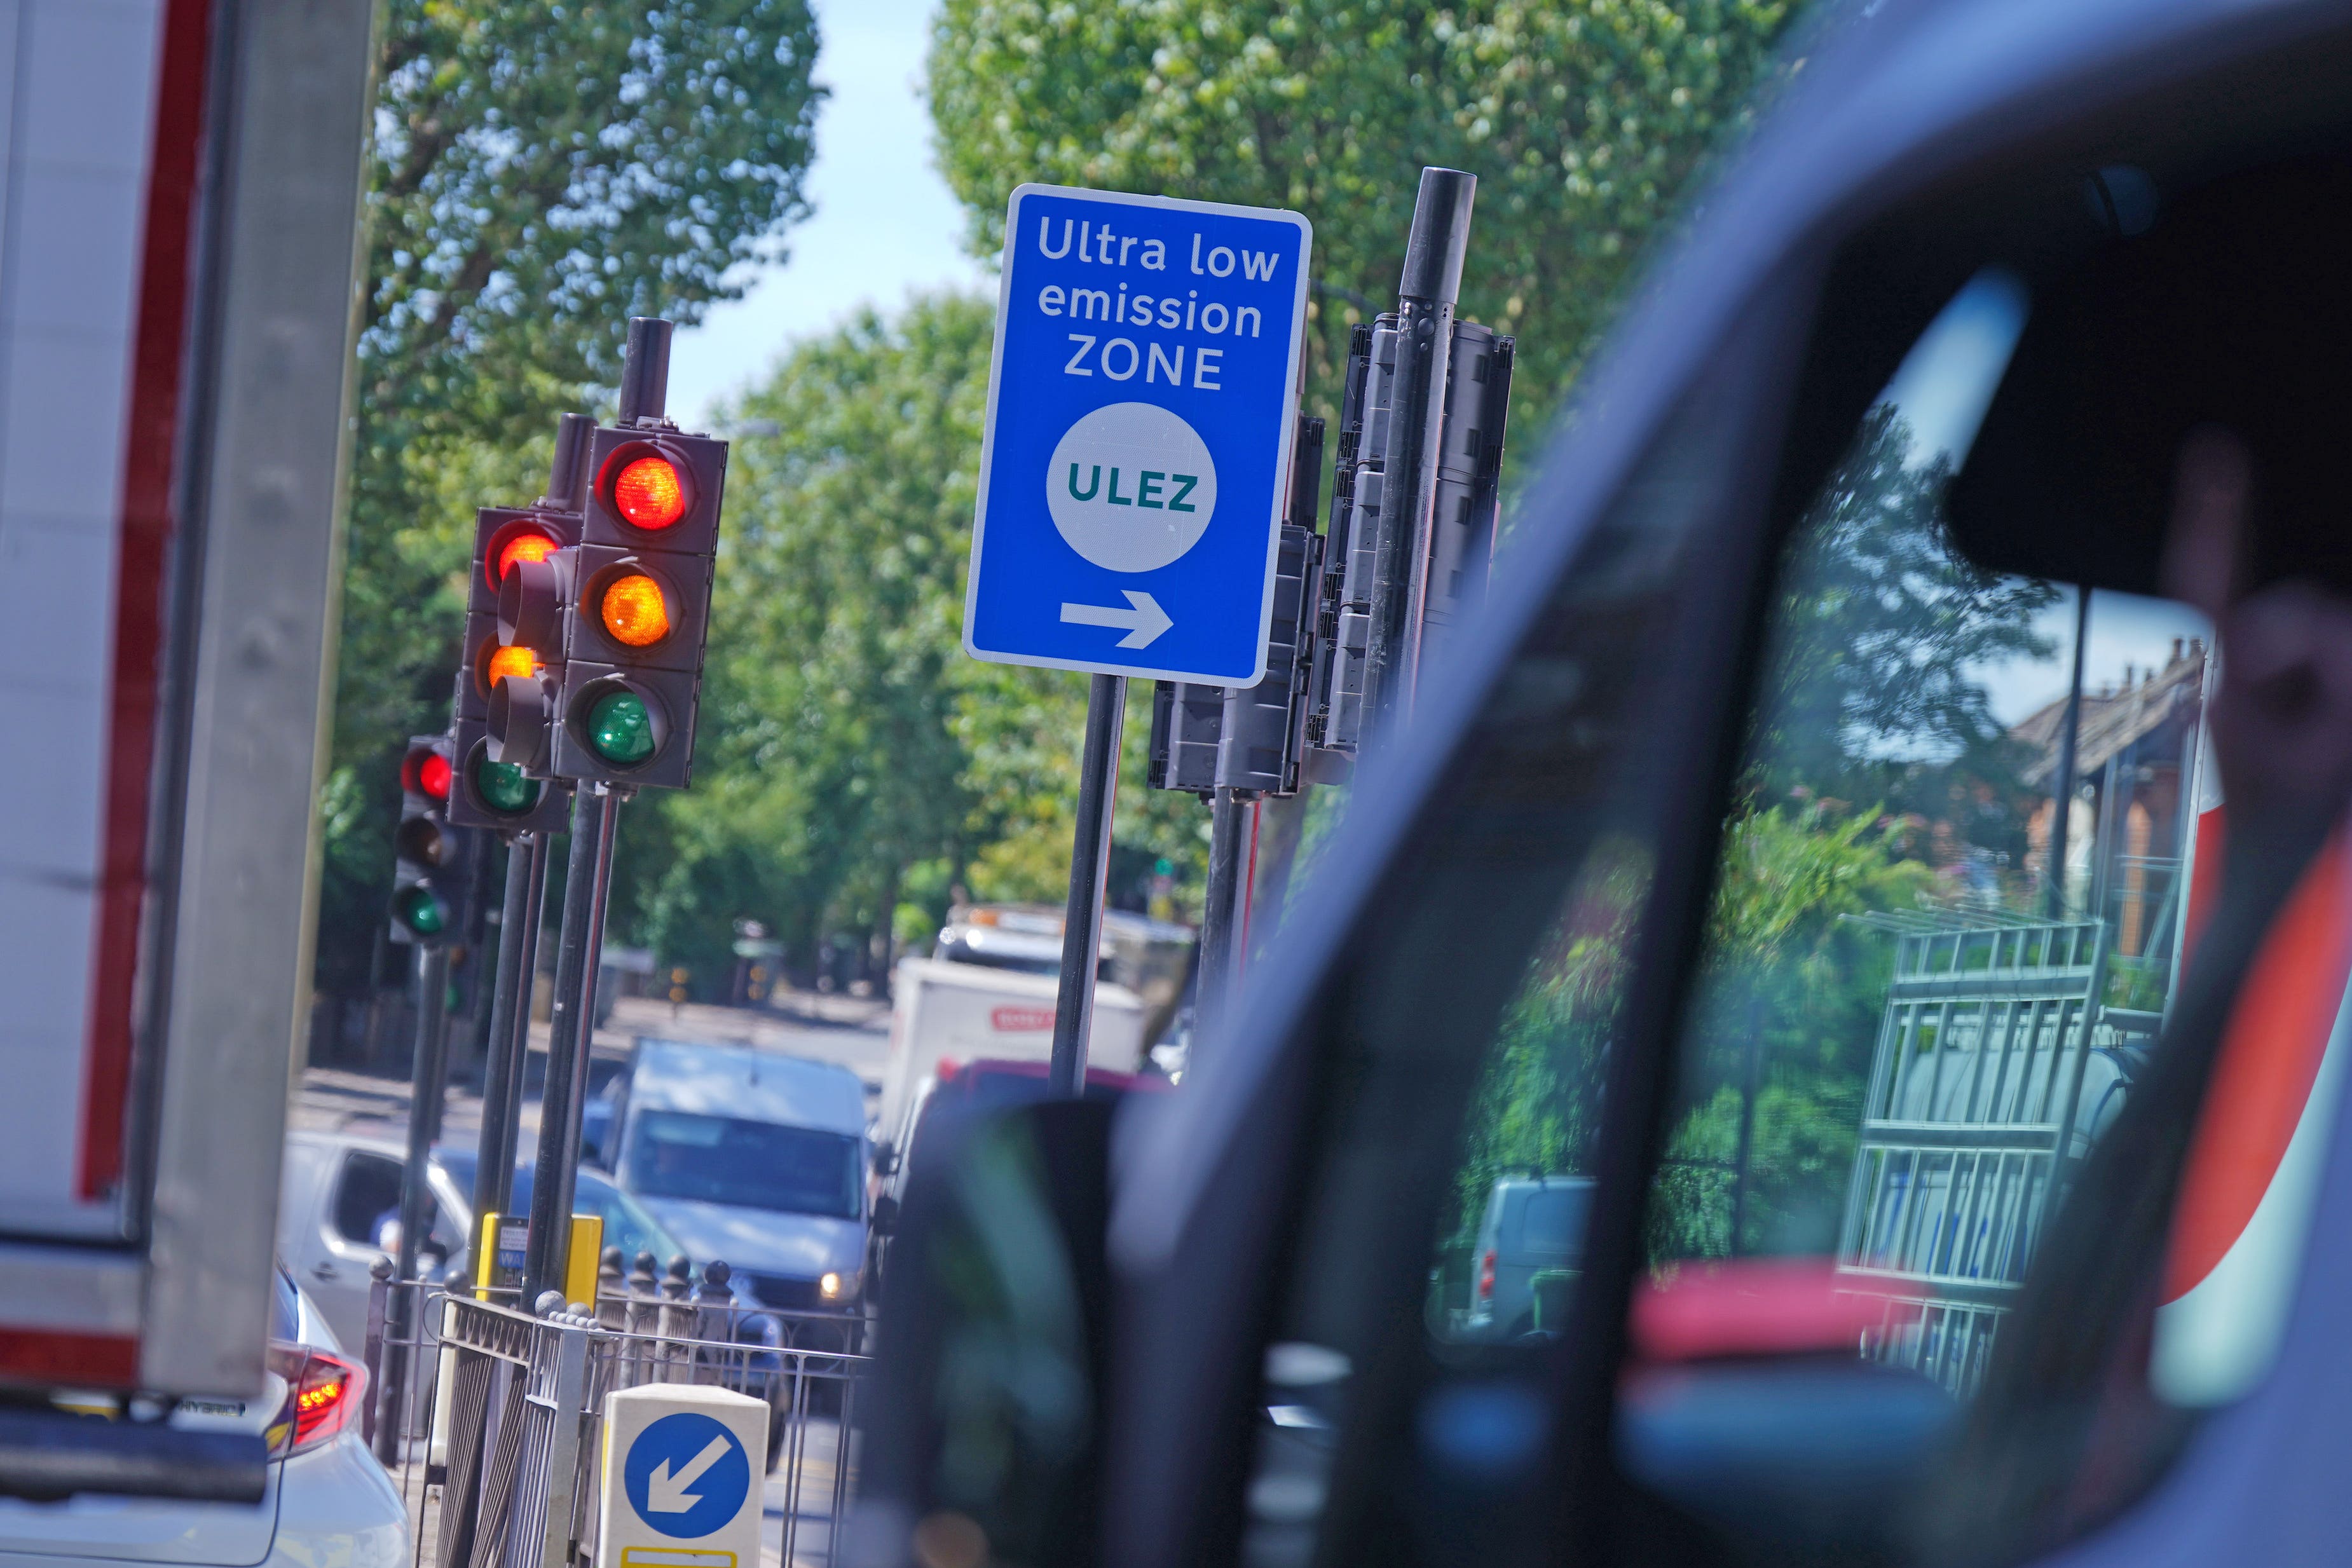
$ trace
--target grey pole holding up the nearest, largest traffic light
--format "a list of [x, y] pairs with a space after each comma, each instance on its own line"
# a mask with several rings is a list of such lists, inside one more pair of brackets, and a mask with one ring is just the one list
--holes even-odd
[[572, 1260], [572, 1192], [581, 1114], [588, 1107], [588, 1046], [595, 1037], [595, 980], [619, 816], [621, 795], [607, 785], [581, 785], [572, 797], [572, 863], [562, 940], [555, 950], [555, 1016], [548, 1023], [548, 1091], [539, 1103], [539, 1164], [532, 1173], [532, 1234], [522, 1267], [527, 1302], [543, 1291], [562, 1291]]

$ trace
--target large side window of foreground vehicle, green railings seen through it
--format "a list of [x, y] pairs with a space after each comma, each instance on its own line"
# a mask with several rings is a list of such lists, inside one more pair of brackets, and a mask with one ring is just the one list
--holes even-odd
[[[1945, 482], [2025, 313], [1999, 273], [1945, 308], [1769, 599], [1618, 1429], [1639, 1479], [1719, 1526], [1766, 1528], [1726, 1502], [1726, 1476], [1764, 1455], [1710, 1467], [1689, 1446], [1715, 1389], [1748, 1378], [1748, 1420], [1778, 1399], [1771, 1420], [1797, 1422], [1780, 1460], [1870, 1422], [1905, 1432], [1882, 1458], [1917, 1474], [1889, 1486], [1875, 1540], [2006, 1540], [1980, 1502], [1938, 1497], [2027, 1493], [1952, 1481], [1966, 1467], [1931, 1455], [2147, 1072], [2192, 936], [2218, 799], [2211, 628], [2164, 599], [1983, 571], [1945, 529]], [[1792, 1356], [1832, 1361], [1799, 1385]], [[1835, 1359], [1849, 1380], [1818, 1382]], [[2025, 1385], [2004, 1410], [2032, 1375], [2011, 1368]]]

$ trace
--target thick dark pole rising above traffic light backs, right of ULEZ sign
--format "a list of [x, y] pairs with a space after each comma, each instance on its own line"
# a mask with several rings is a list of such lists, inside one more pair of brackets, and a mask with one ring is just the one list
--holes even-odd
[[1454, 301], [1470, 254], [1470, 202], [1477, 176], [1423, 169], [1414, 228], [1397, 282], [1397, 381], [1390, 397], [1388, 449], [1381, 456], [1383, 505], [1376, 531], [1381, 599], [1374, 602], [1367, 703], [1374, 712], [1411, 712], [1421, 672], [1421, 618], [1428, 607], [1430, 510], [1437, 505], [1437, 449], [1446, 418], [1446, 362], [1454, 350]]

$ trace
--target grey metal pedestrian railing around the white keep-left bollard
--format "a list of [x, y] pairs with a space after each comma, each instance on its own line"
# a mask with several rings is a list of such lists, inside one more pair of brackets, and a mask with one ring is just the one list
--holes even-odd
[[835, 1561], [873, 1366], [863, 1319], [739, 1300], [722, 1262], [699, 1284], [684, 1260], [656, 1279], [642, 1253], [630, 1274], [607, 1253], [593, 1312], [553, 1291], [536, 1314], [513, 1291], [487, 1295], [506, 1300], [461, 1284], [374, 1286], [367, 1361], [379, 1399], [365, 1432], [409, 1507], [416, 1568], [590, 1563], [604, 1396], [661, 1382], [769, 1406], [762, 1563]]

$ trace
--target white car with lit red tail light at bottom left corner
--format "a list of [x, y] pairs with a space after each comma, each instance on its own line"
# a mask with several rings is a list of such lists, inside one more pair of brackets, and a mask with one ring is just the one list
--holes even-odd
[[[278, 1267], [270, 1291], [268, 1380], [256, 1399], [191, 1399], [174, 1427], [259, 1432], [270, 1439], [261, 1502], [106, 1497], [61, 1502], [0, 1497], [0, 1563], [59, 1559], [261, 1568], [409, 1568], [407, 1512], [390, 1476], [360, 1441], [367, 1373], [334, 1326]], [[61, 1406], [94, 1418], [99, 1396]]]

